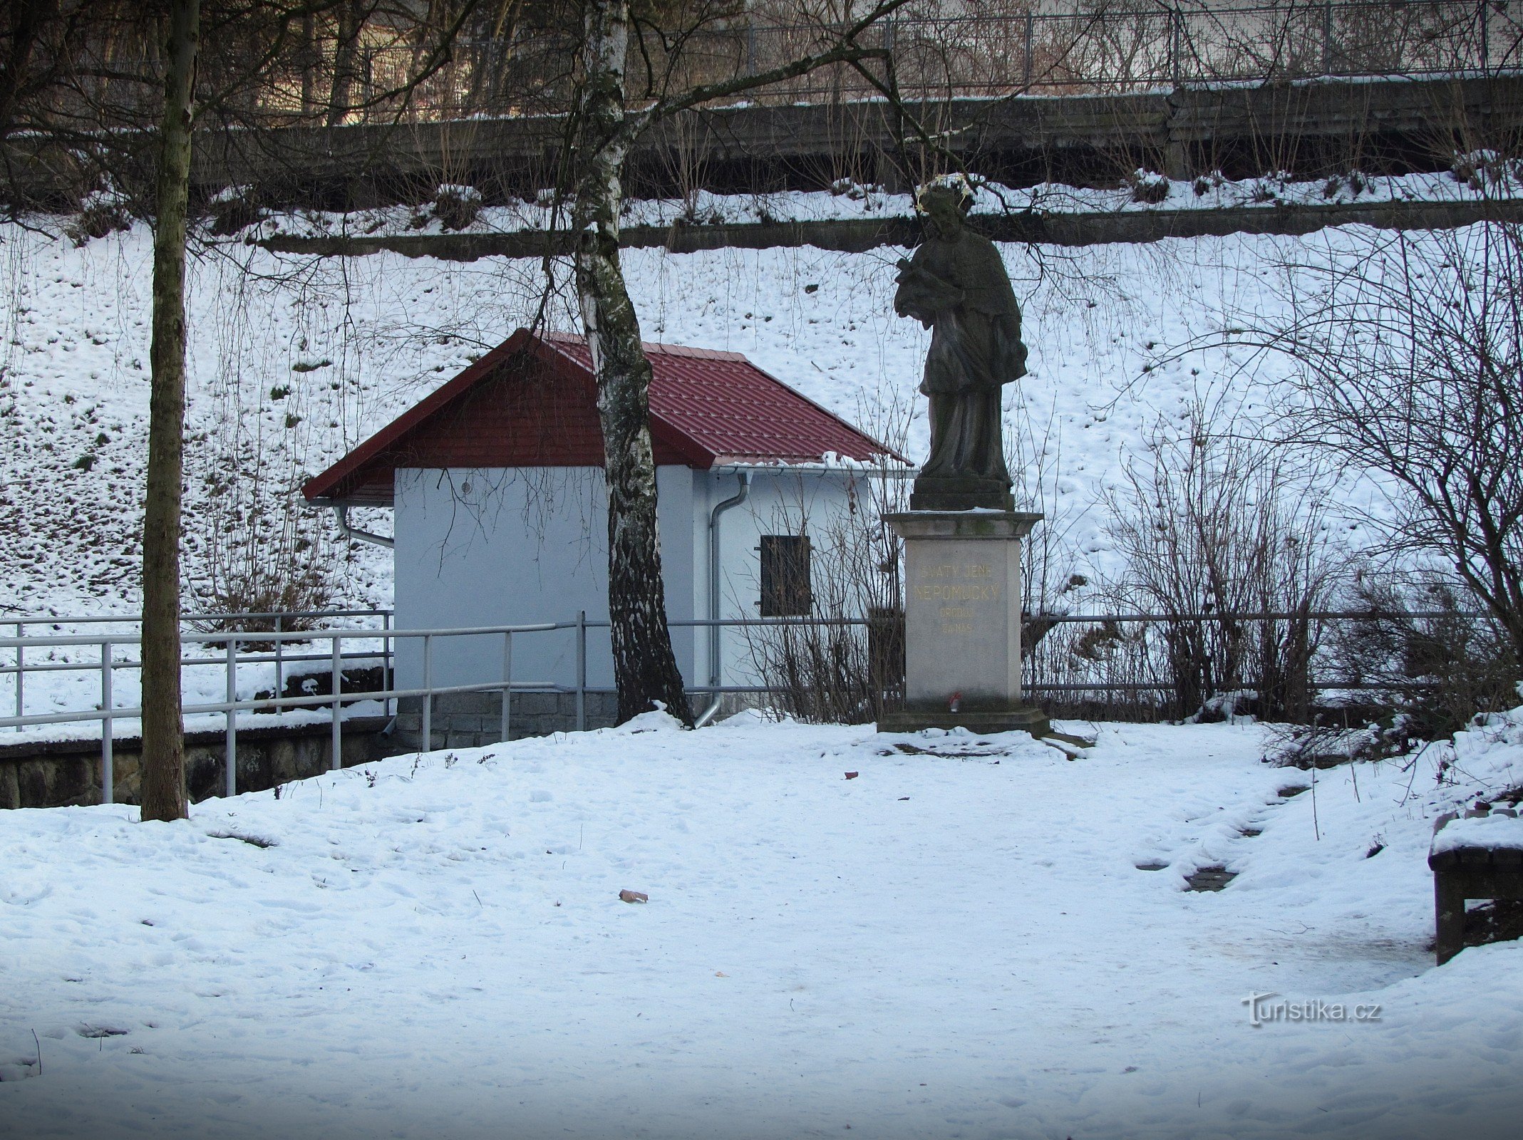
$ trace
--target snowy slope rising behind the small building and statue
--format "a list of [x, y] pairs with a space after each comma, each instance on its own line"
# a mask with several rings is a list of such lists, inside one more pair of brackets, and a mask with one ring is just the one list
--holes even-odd
[[[129, 612], [148, 406], [149, 234], [73, 248], [9, 227], [8, 336], [0, 365], [0, 609]], [[1147, 431], [1196, 400], [1224, 428], [1273, 423], [1284, 364], [1206, 349], [1235, 314], [1273, 315], [1276, 262], [1345, 240], [1203, 237], [1147, 247], [1005, 247], [1027, 309], [1031, 376], [1007, 397], [1017, 492], [1086, 574], [1115, 569], [1101, 492], [1144, 458]], [[926, 333], [891, 312], [894, 260], [813, 248], [672, 256], [624, 263], [650, 339], [733, 349], [870, 431], [892, 434], [915, 396]], [[379, 254], [352, 262], [203, 251], [190, 280], [187, 586], [212, 604], [209, 559], [256, 505], [263, 525], [315, 536], [308, 557], [337, 571], [335, 601], [385, 604], [384, 552], [335, 542], [326, 517], [285, 492], [524, 324], [539, 266]], [[571, 327], [564, 291], [550, 320]], [[1247, 365], [1247, 367], [1244, 367]], [[241, 467], [238, 478], [228, 472]], [[228, 490], [231, 486], [231, 490]], [[1336, 499], [1369, 496], [1348, 484]], [[271, 524], [271, 519], [274, 522]], [[375, 519], [381, 530], [388, 519]], [[364, 521], [361, 521], [364, 525]], [[1359, 536], [1354, 536], [1359, 542]]]

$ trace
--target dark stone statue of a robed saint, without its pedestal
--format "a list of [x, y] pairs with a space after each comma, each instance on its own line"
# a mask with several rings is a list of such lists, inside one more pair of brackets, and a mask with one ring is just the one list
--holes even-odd
[[894, 312], [931, 329], [926, 376], [931, 455], [911, 510], [1013, 510], [999, 394], [1027, 374], [1020, 306], [999, 250], [964, 224], [972, 199], [932, 183], [917, 196], [924, 240], [899, 262]]

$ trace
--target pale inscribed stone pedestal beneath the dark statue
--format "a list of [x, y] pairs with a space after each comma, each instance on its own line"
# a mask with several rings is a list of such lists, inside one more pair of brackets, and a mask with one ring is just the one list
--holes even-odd
[[1043, 735], [1020, 693], [1020, 539], [1028, 511], [912, 510], [885, 521], [905, 540], [905, 708], [880, 732], [967, 728]]

